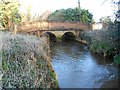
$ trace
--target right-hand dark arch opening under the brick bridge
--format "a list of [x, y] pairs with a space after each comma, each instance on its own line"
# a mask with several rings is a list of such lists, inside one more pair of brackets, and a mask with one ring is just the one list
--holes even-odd
[[65, 41], [65, 40], [75, 40], [76, 39], [76, 35], [74, 32], [65, 32], [62, 36], [61, 36], [61, 40]]

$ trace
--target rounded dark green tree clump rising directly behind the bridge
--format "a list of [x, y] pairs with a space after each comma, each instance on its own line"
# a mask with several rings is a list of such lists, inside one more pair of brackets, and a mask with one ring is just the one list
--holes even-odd
[[80, 21], [84, 23], [93, 22], [93, 14], [88, 10], [79, 8], [59, 9], [48, 16], [49, 21]]

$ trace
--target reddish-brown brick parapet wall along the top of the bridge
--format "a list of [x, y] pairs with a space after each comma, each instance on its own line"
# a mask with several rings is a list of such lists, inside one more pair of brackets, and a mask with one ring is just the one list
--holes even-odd
[[50, 30], [50, 29], [81, 29], [90, 30], [90, 26], [81, 22], [57, 22], [57, 21], [40, 21], [31, 23], [21, 23], [17, 26], [18, 32], [29, 32], [35, 30]]

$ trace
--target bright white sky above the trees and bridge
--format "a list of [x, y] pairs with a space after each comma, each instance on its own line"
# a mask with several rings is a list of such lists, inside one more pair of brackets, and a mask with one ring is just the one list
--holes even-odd
[[[94, 16], [95, 21], [103, 16], [113, 16], [113, 7], [111, 2], [104, 0], [80, 0], [82, 9], [88, 9]], [[54, 11], [61, 8], [75, 8], [78, 6], [78, 0], [20, 0], [24, 6], [31, 6], [31, 14], [39, 14], [46, 10]], [[23, 8], [21, 11], [24, 11]]]

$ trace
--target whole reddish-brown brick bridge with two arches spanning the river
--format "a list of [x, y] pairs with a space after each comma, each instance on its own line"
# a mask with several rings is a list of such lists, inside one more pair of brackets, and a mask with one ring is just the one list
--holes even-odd
[[17, 26], [17, 32], [28, 33], [30, 35], [41, 36], [46, 32], [54, 36], [63, 36], [65, 33], [73, 33], [79, 36], [80, 31], [90, 30], [90, 25], [81, 22], [58, 22], [58, 21], [40, 21], [33, 23], [22, 23]]

